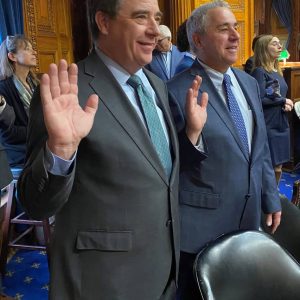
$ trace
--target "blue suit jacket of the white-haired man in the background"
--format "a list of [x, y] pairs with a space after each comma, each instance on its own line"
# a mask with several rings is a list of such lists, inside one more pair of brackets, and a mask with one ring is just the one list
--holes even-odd
[[167, 73], [165, 63], [163, 61], [163, 56], [160, 51], [153, 51], [152, 61], [146, 66], [146, 68], [153, 72], [155, 75], [157, 75], [159, 78], [161, 78], [163, 81], [168, 81], [175, 75], [176, 68], [185, 54], [185, 52], [180, 52], [175, 45], [172, 45], [171, 53], [172, 54], [170, 76]]

